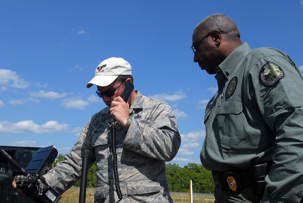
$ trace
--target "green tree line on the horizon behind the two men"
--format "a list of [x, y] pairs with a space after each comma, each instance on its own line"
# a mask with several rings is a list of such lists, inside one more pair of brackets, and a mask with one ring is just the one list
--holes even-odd
[[[64, 159], [63, 154], [59, 154], [54, 162], [54, 166]], [[96, 169], [94, 163], [89, 168], [87, 174], [87, 187], [96, 187]], [[211, 171], [206, 170], [202, 164], [189, 163], [183, 168], [179, 164], [166, 164], [166, 175], [169, 190], [171, 192], [189, 192], [189, 181], [192, 181], [193, 193], [214, 193], [215, 184], [211, 176]], [[75, 184], [80, 187], [80, 181]]]

